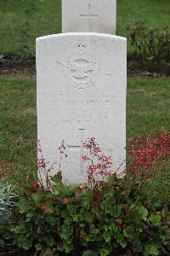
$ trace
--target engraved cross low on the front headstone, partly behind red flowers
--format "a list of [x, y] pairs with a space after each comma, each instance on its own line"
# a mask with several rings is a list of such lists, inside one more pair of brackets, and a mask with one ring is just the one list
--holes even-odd
[[67, 145], [67, 148], [69, 150], [78, 150], [79, 151], [79, 156], [80, 156], [80, 177], [84, 177], [84, 170], [83, 170], [83, 162], [82, 162], [82, 155], [83, 155], [83, 142], [84, 142], [84, 130], [85, 129], [78, 129], [78, 131], [81, 132], [81, 140], [80, 140], [80, 145]]

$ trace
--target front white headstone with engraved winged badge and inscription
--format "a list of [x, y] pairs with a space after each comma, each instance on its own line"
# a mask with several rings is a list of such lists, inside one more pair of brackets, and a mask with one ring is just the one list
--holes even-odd
[[86, 180], [82, 143], [88, 137], [111, 155], [115, 170], [125, 160], [126, 69], [126, 38], [98, 33], [37, 38], [38, 138], [43, 158], [56, 166], [65, 141], [65, 182]]

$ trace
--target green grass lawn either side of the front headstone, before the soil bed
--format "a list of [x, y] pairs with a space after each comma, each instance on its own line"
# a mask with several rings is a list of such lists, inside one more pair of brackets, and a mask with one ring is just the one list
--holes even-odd
[[[169, 129], [170, 86], [168, 79], [130, 78], [127, 81], [127, 137]], [[0, 160], [14, 166], [14, 183], [36, 170], [37, 140], [35, 79], [0, 78]], [[170, 196], [169, 166], [156, 175], [150, 193]]]

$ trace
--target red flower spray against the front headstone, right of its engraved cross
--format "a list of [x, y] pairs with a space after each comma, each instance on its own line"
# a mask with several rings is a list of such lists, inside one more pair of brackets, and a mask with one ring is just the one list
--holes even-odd
[[111, 175], [111, 156], [102, 154], [99, 144], [95, 142], [95, 138], [88, 138], [83, 147], [89, 150], [89, 155], [82, 156], [84, 162], [88, 162], [88, 184], [95, 183], [95, 177], [100, 176], [102, 178]]

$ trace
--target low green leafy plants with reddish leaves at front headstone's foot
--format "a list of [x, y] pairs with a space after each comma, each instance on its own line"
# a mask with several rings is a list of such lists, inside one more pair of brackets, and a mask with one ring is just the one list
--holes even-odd
[[127, 179], [111, 175], [89, 189], [54, 177], [53, 192], [32, 183], [18, 203], [14, 242], [42, 255], [168, 255], [170, 212]]

